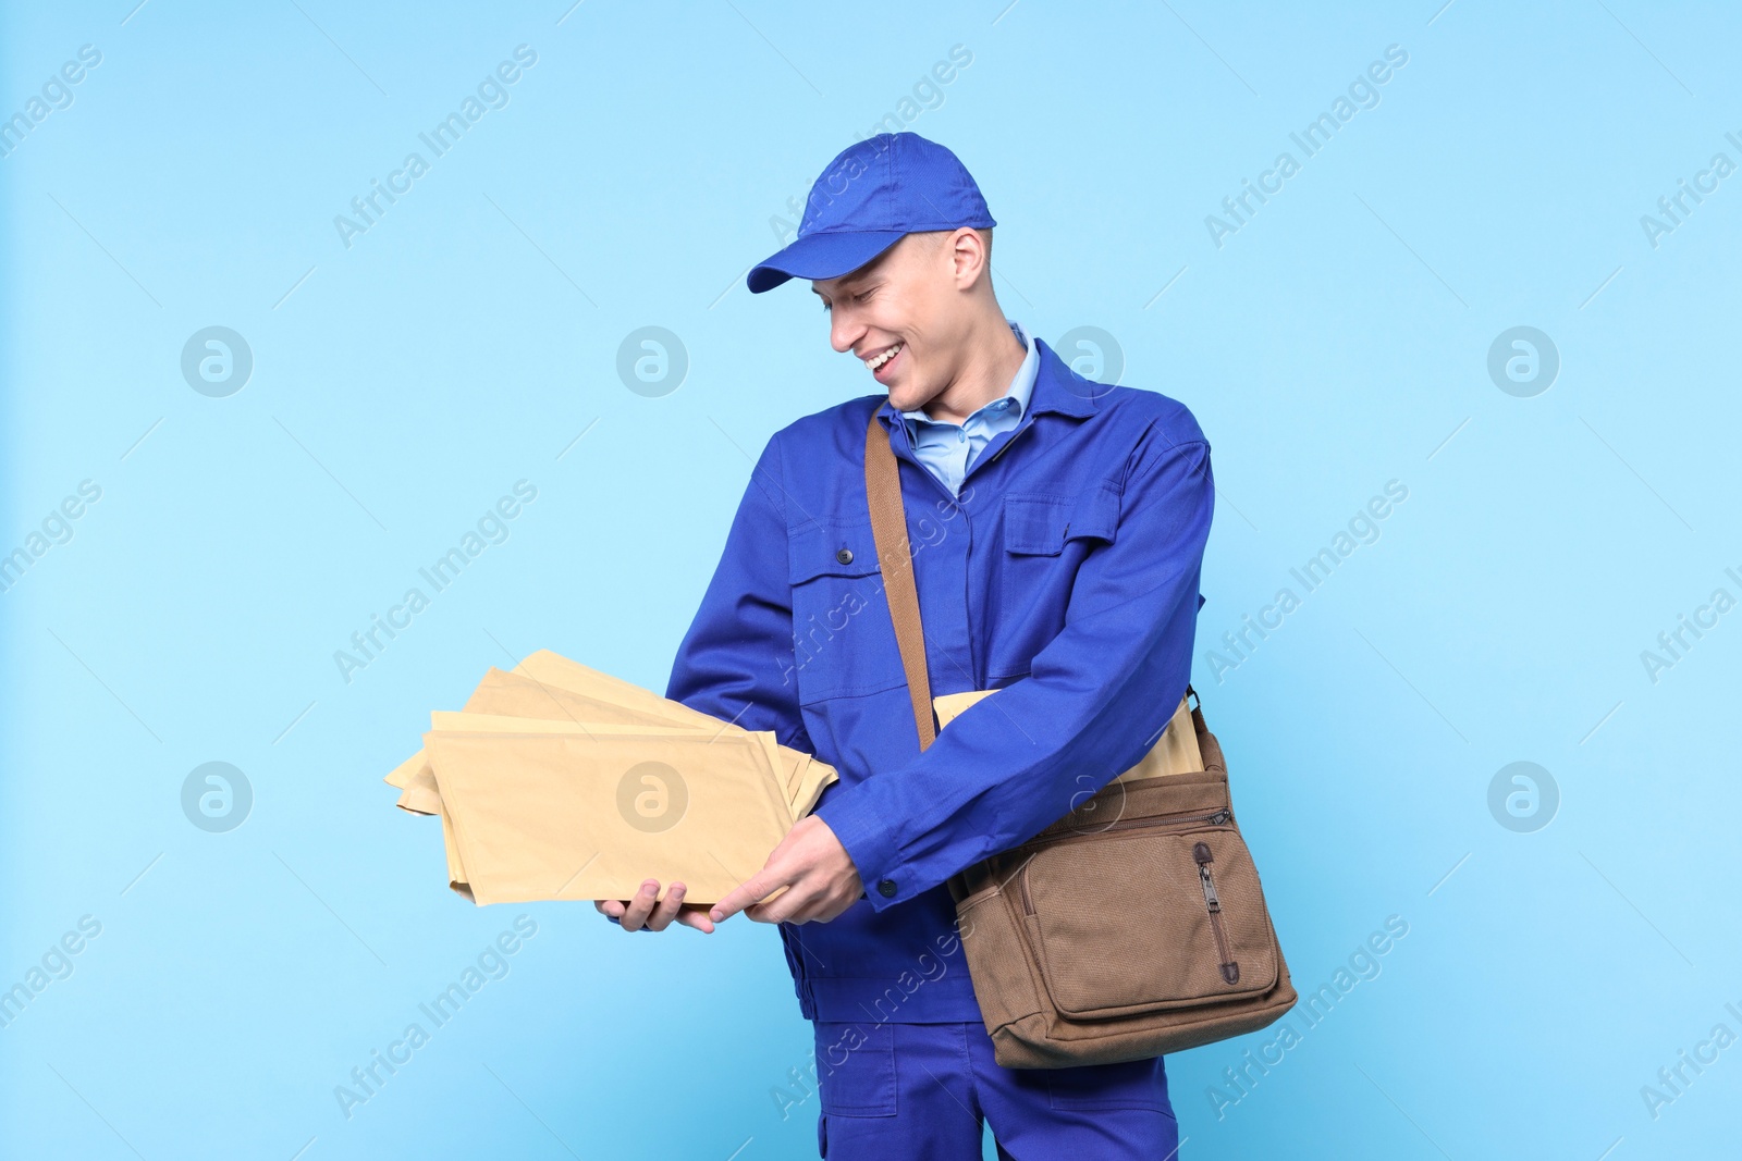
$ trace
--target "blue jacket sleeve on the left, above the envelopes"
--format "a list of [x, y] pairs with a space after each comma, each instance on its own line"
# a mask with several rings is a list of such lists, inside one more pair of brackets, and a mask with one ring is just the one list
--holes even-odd
[[782, 745], [814, 752], [798, 712], [793, 585], [779, 437], [763, 447], [726, 548], [678, 646], [665, 696], [744, 729], [772, 729]]

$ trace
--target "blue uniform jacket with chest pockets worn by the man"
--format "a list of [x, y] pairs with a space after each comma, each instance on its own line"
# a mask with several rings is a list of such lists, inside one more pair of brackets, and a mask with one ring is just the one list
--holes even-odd
[[[866, 507], [873, 411], [901, 470], [932, 693], [998, 689], [923, 752]], [[866, 896], [780, 924], [807, 1018], [979, 1018], [944, 881], [1153, 745], [1190, 675], [1212, 507], [1185, 404], [1090, 383], [1043, 343], [1023, 421], [960, 498], [915, 460], [887, 395], [768, 440], [665, 696], [840, 771], [817, 813]]]

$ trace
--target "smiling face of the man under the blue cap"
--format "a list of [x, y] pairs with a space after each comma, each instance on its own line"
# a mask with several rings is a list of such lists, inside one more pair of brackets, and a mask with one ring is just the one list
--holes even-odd
[[859, 270], [810, 284], [829, 312], [829, 345], [852, 352], [897, 411], [935, 399], [962, 359], [970, 303], [951, 237], [909, 233]]

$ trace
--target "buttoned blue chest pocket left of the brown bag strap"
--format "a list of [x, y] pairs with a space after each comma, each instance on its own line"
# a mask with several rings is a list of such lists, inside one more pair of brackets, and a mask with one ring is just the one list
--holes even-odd
[[787, 536], [793, 660], [800, 703], [901, 684], [871, 522], [812, 520]]

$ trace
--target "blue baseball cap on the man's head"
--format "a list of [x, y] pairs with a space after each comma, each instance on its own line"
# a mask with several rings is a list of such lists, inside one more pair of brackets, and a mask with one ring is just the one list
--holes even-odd
[[916, 132], [880, 132], [829, 162], [810, 186], [798, 237], [744, 282], [761, 294], [787, 279], [838, 279], [909, 233], [996, 225], [955, 153]]

